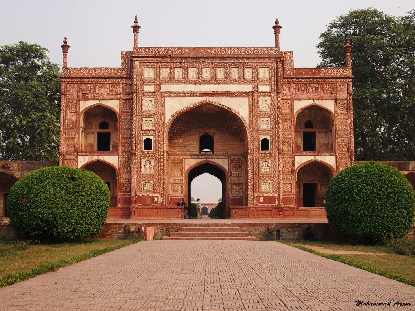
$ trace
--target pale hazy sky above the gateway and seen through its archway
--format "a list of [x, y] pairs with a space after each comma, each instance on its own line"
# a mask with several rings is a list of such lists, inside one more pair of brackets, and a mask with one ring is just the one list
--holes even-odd
[[[315, 67], [320, 62], [315, 46], [327, 24], [348, 10], [366, 7], [402, 16], [415, 4], [413, 0], [0, 0], [0, 46], [36, 43], [49, 50], [52, 62], [61, 64], [60, 46], [66, 36], [71, 46], [69, 67], [119, 67], [121, 51], [132, 50], [136, 14], [142, 27], [140, 46], [273, 46], [271, 27], [278, 18], [281, 49], [294, 51], [295, 67]], [[193, 197], [204, 201], [221, 197], [216, 177], [199, 177], [193, 183]]]

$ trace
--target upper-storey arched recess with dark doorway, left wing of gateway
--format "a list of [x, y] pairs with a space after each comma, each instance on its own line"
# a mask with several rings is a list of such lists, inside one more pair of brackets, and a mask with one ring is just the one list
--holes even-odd
[[81, 114], [81, 151], [118, 151], [118, 116], [109, 107], [94, 105]]

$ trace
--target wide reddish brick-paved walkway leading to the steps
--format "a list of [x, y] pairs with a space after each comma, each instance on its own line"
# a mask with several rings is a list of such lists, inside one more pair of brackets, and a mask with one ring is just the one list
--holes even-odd
[[144, 241], [0, 289], [2, 311], [393, 308], [356, 300], [415, 310], [415, 287], [272, 241]]

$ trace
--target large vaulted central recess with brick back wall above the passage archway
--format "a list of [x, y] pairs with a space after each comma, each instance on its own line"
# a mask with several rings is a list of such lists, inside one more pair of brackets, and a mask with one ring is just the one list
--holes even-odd
[[247, 129], [242, 119], [229, 109], [205, 102], [186, 109], [171, 121], [167, 131], [169, 154], [199, 154], [204, 134], [212, 136], [211, 151], [216, 155], [247, 151]]

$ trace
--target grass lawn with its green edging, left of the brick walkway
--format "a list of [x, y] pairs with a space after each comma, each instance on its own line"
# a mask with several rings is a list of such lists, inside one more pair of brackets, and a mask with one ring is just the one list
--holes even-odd
[[33, 245], [29, 241], [0, 243], [0, 287], [102, 255], [142, 241], [82, 240], [75, 243]]

